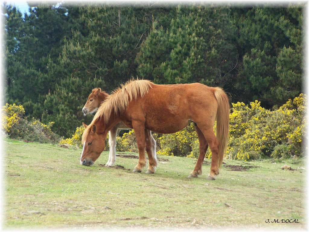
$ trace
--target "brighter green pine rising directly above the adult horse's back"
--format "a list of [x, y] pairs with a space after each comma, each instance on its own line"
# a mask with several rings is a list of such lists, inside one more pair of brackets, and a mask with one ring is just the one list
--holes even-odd
[[[156, 83], [224, 86], [238, 57], [226, 7], [178, 7], [169, 28], [155, 27], [137, 57], [138, 75]], [[205, 76], [205, 74], [207, 74]]]

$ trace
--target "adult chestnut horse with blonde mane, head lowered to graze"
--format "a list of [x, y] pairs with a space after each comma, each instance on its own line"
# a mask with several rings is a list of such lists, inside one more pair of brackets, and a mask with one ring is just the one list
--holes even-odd
[[[214, 121], [217, 120], [217, 137]], [[215, 179], [222, 165], [229, 133], [229, 101], [219, 87], [200, 83], [157, 85], [147, 80], [129, 81], [114, 91], [100, 105], [91, 124], [83, 133], [81, 163], [93, 163], [104, 150], [106, 135], [122, 121], [135, 132], [139, 160], [133, 172], [146, 165], [145, 147], [149, 159], [148, 173], [155, 172], [147, 130], [175, 133], [193, 122], [200, 144], [200, 154], [189, 177], [202, 173], [205, 153], [210, 147], [212, 158], [208, 179]]]

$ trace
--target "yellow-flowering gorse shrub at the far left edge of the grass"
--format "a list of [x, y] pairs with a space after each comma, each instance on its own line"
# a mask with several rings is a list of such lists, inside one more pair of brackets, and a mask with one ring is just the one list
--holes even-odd
[[53, 122], [46, 125], [34, 118], [28, 121], [28, 118], [23, 116], [24, 112], [22, 105], [6, 103], [2, 107], [2, 130], [9, 137], [41, 143], [57, 143], [59, 141], [59, 136], [51, 131]]

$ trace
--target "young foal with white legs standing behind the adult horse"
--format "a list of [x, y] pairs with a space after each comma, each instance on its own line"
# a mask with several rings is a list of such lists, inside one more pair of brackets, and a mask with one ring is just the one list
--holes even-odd
[[[93, 114], [94, 112], [96, 112], [100, 104], [108, 96], [109, 96], [108, 93], [106, 93], [105, 91], [102, 91], [101, 88], [94, 88], [91, 91], [87, 99], [87, 102], [83, 107], [84, 115], [86, 116], [87, 114]], [[85, 126], [85, 128], [87, 128], [86, 124], [83, 123], [83, 125]], [[109, 133], [109, 136], [108, 136], [109, 156], [108, 156], [108, 161], [105, 164], [105, 166], [107, 167], [112, 167], [116, 161], [116, 137], [117, 137], [119, 129], [131, 129], [131, 128], [127, 127], [125, 124], [123, 124], [123, 122], [119, 122], [108, 132]], [[151, 141], [150, 145], [151, 145], [152, 154], [154, 155], [154, 159], [157, 160], [156, 150], [155, 150], [156, 141], [152, 137], [151, 132], [149, 132], [149, 136], [150, 136], [150, 141]]]

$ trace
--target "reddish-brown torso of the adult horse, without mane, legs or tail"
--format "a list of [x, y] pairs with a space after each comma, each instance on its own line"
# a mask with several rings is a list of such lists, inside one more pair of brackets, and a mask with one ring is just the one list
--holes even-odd
[[214, 120], [217, 107], [212, 87], [200, 83], [152, 84], [144, 97], [129, 103], [125, 117], [128, 121], [144, 120], [146, 128], [155, 132], [174, 133], [205, 112]]

